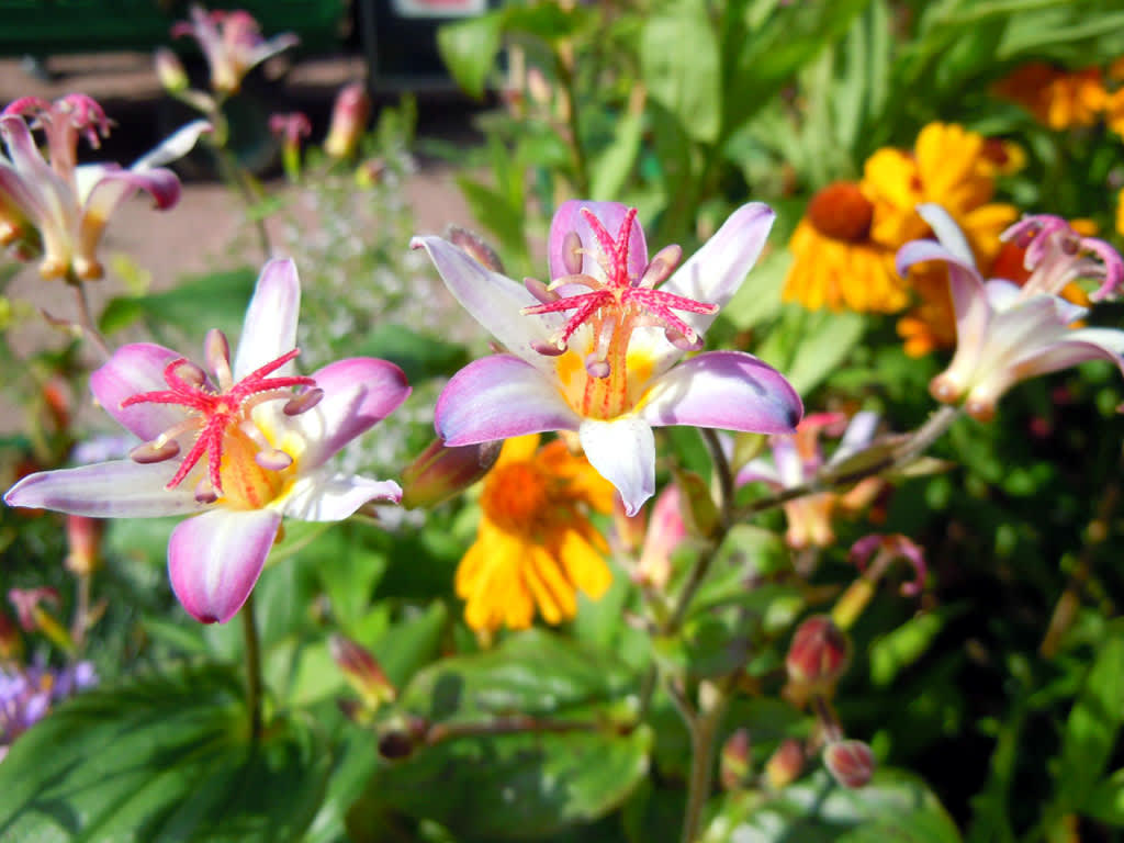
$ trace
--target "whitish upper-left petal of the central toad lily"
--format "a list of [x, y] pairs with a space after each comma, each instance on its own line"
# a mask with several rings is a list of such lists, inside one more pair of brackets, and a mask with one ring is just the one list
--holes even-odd
[[538, 299], [523, 284], [491, 272], [441, 237], [415, 237], [410, 247], [425, 248], [453, 297], [509, 352], [544, 372], [552, 369], [534, 346], [547, 343], [564, 321], [561, 315], [524, 316], [523, 308], [540, 303]]

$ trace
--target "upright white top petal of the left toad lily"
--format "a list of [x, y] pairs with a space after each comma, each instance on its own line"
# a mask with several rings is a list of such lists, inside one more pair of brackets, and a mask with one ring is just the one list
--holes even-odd
[[[297, 345], [297, 316], [300, 312], [300, 279], [290, 260], [272, 260], [262, 268], [257, 287], [242, 324], [242, 338], [234, 360], [234, 379], [242, 380], [255, 369], [277, 360]], [[285, 363], [274, 378], [294, 374]]]

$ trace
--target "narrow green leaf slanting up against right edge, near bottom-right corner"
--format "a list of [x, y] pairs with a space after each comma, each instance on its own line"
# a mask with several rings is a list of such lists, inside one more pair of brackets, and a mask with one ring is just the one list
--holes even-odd
[[1048, 814], [1079, 809], [1100, 778], [1124, 723], [1124, 635], [1106, 638], [1089, 669], [1062, 734], [1054, 769], [1057, 794]]

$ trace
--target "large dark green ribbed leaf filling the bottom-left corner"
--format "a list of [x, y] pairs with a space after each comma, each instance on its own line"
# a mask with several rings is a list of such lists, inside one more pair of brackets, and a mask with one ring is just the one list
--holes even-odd
[[294, 840], [330, 754], [275, 718], [248, 738], [242, 680], [192, 670], [93, 689], [21, 735], [0, 765], [0, 840]]

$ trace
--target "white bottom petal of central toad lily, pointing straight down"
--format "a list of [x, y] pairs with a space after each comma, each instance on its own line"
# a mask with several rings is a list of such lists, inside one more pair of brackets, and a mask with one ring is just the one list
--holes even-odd
[[583, 419], [578, 428], [589, 464], [617, 487], [625, 514], [636, 515], [655, 493], [655, 437], [643, 419]]

